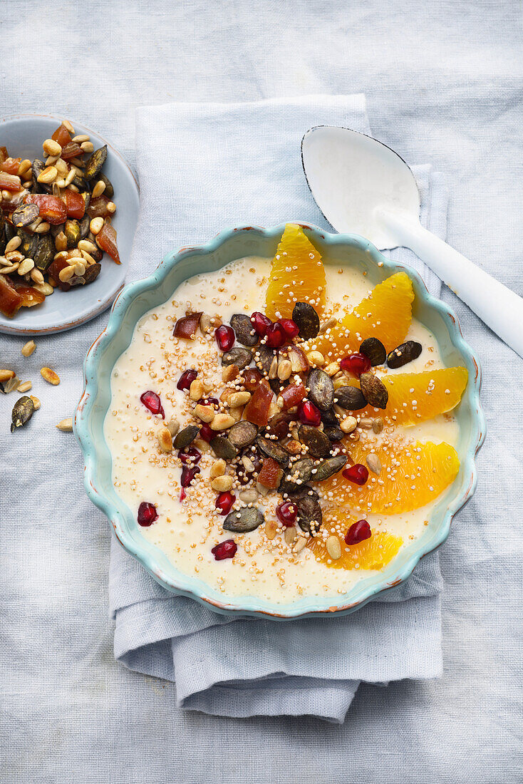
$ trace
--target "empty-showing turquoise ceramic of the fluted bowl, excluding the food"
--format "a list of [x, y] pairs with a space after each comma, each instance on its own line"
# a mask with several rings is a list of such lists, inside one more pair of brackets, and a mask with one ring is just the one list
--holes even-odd
[[[143, 538], [134, 514], [114, 492], [111, 453], [104, 438], [104, 417], [111, 401], [111, 371], [129, 346], [136, 322], [147, 310], [169, 299], [180, 283], [191, 275], [218, 270], [243, 256], [271, 258], [284, 226], [228, 229], [206, 245], [183, 248], [165, 256], [154, 274], [126, 286], [119, 294], [107, 328], [89, 349], [84, 365], [85, 388], [76, 411], [74, 432], [85, 458], [87, 493], [107, 515], [125, 550], [136, 557], [162, 586], [173, 593], [193, 597], [208, 607], [210, 605], [217, 612], [238, 612], [274, 619], [353, 612], [372, 597], [407, 579], [420, 558], [445, 542], [452, 517], [470, 499], [476, 484], [474, 457], [485, 432], [479, 401], [480, 369], [472, 350], [463, 340], [456, 316], [444, 303], [430, 296], [414, 270], [386, 259], [369, 241], [353, 234], [328, 234], [308, 224], [301, 225], [326, 264], [338, 267], [343, 264], [365, 271], [372, 285], [398, 270], [406, 270], [409, 274], [416, 293], [414, 315], [436, 336], [445, 364], [466, 365], [469, 372], [467, 389], [456, 408], [459, 423], [457, 451], [461, 467], [456, 480], [438, 498], [416, 547], [400, 550], [381, 572], [363, 576], [336, 601], [332, 597], [303, 597], [281, 605], [256, 597], [226, 597], [201, 579], [178, 571], [161, 550]], [[332, 575], [332, 579], [336, 579], [336, 575]]]

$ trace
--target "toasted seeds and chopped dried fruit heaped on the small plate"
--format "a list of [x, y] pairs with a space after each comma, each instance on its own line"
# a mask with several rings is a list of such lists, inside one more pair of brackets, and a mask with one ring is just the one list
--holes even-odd
[[119, 264], [111, 182], [95, 150], [64, 120], [42, 144], [42, 160], [0, 147], [0, 312], [11, 318], [58, 287], [92, 283], [104, 252]]

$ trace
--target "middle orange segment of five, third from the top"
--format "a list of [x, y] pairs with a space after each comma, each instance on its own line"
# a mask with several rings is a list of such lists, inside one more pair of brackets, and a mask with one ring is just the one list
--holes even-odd
[[417, 425], [456, 408], [467, 387], [467, 379], [467, 368], [380, 376], [389, 393], [387, 408], [382, 411], [369, 405], [358, 411], [358, 416], [383, 416], [395, 425]]

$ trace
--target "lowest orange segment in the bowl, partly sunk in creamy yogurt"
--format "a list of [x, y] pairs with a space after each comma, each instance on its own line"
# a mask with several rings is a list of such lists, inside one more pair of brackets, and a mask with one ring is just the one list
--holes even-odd
[[[347, 519], [347, 528], [352, 522], [354, 521]], [[392, 561], [403, 544], [401, 536], [395, 536], [387, 531], [374, 531], [369, 539], [364, 539], [363, 542], [350, 546], [345, 544], [344, 539], [340, 537], [339, 539], [341, 557], [336, 561], [332, 561], [321, 537], [316, 536], [309, 539], [307, 546], [318, 561], [333, 569], [382, 569]]]

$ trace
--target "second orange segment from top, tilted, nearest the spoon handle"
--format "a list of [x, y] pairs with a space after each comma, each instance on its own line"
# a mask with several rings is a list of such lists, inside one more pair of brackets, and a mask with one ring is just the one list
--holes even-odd
[[387, 351], [391, 351], [403, 342], [409, 331], [412, 299], [409, 275], [406, 272], [391, 275], [325, 336], [319, 335], [311, 343], [329, 360], [358, 351], [361, 341], [370, 337], [380, 339]]

